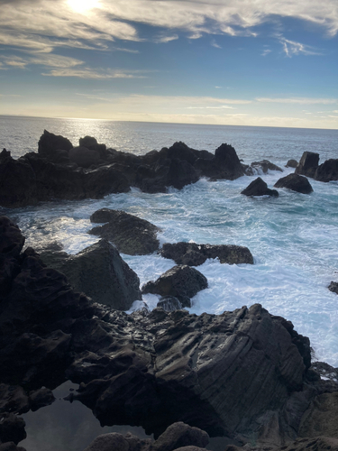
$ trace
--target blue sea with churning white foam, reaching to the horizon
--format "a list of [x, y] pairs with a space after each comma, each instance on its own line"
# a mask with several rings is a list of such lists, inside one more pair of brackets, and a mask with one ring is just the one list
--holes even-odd
[[[108, 147], [135, 154], [160, 150], [177, 141], [209, 152], [229, 143], [244, 163], [266, 159], [283, 168], [283, 173], [260, 174], [269, 188], [293, 171], [285, 168], [287, 161], [299, 161], [305, 151], [318, 152], [320, 163], [338, 158], [338, 130], [16, 116], [0, 116], [0, 146], [14, 158], [37, 152], [44, 129], [68, 137], [74, 145], [80, 137], [91, 135]], [[26, 245], [40, 247], [57, 241], [68, 253], [78, 253], [97, 241], [87, 234], [92, 227], [89, 216], [102, 207], [122, 209], [160, 226], [161, 243], [247, 246], [254, 256], [253, 265], [208, 260], [197, 268], [205, 274], [209, 288], [192, 299], [190, 312], [219, 314], [260, 303], [271, 314], [292, 321], [298, 333], [310, 338], [315, 360], [338, 367], [338, 296], [327, 289], [330, 281], [338, 281], [338, 182], [310, 179], [311, 195], [279, 189], [279, 198], [242, 196], [242, 189], [254, 177], [216, 182], [201, 179], [180, 191], [169, 189], [166, 194], [132, 189], [101, 200], [0, 207], [0, 214], [12, 217], [20, 226]], [[155, 280], [175, 264], [155, 253], [122, 256], [137, 272], [141, 284]], [[143, 300], [150, 308], [158, 301], [154, 295]], [[141, 305], [137, 301], [133, 308]], [[45, 443], [43, 449], [56, 448], [47, 448]]]

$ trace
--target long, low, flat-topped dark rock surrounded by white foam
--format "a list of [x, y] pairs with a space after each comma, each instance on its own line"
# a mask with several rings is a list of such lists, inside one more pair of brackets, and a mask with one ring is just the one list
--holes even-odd
[[252, 254], [247, 247], [232, 244], [165, 243], [160, 254], [177, 264], [189, 266], [203, 264], [208, 258], [218, 258], [221, 263], [228, 264], [253, 264]]

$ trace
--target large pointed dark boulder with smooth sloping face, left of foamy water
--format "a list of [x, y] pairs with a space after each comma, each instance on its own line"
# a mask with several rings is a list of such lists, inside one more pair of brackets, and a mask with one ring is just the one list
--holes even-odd
[[132, 302], [142, 299], [140, 281], [106, 240], [92, 244], [76, 255], [41, 253], [50, 268], [63, 272], [76, 291], [82, 291], [100, 304], [128, 310]]

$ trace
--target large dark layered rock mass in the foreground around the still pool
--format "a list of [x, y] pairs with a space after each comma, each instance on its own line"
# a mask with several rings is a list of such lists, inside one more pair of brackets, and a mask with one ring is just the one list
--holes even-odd
[[23, 449], [17, 414], [52, 402], [50, 390], [66, 380], [103, 425], [140, 425], [158, 437], [109, 434], [87, 451], [200, 451], [208, 435], [228, 437], [228, 451], [338, 449], [338, 373], [327, 365], [332, 380], [321, 380], [308, 338], [288, 320], [259, 304], [218, 316], [127, 315], [73, 290], [23, 244], [2, 216], [0, 451]]

